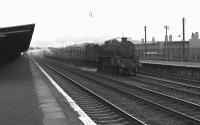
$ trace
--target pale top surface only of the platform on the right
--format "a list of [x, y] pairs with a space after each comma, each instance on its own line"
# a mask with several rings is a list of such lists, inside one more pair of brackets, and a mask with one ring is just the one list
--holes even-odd
[[180, 62], [180, 61], [162, 61], [162, 60], [140, 60], [142, 64], [157, 64], [177, 67], [200, 68], [199, 62]]

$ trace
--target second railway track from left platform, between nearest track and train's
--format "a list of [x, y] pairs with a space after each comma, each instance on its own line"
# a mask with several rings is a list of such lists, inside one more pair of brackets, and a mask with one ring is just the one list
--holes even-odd
[[[63, 66], [59, 67], [63, 68]], [[95, 82], [99, 82], [99, 84], [107, 86], [108, 88], [115, 89], [115, 91], [126, 94], [129, 97], [134, 96], [134, 98], [143, 100], [151, 105], [157, 106], [160, 109], [170, 112], [179, 118], [187, 119], [188, 121], [194, 124], [200, 124], [200, 120], [198, 117], [200, 107], [197, 104], [170, 97], [152, 90], [140, 88], [138, 86], [133, 86], [122, 81], [112, 79], [110, 77], [105, 77], [88, 72], [84, 72], [83, 75], [80, 74], [80, 72], [82, 71], [75, 71], [74, 73], [76, 73], [77, 75], [87, 77], [88, 79], [93, 80]], [[104, 81], [103, 79], [106, 79], [106, 81]], [[110, 82], [109, 84], [108, 81]]]

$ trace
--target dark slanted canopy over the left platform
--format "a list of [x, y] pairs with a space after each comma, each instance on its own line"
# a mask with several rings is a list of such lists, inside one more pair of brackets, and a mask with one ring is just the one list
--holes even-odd
[[29, 48], [35, 24], [0, 28], [0, 53], [21, 53]]

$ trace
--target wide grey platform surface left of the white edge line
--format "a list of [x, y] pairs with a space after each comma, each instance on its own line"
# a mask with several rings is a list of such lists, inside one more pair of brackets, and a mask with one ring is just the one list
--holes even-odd
[[0, 68], [0, 125], [83, 125], [28, 56]]

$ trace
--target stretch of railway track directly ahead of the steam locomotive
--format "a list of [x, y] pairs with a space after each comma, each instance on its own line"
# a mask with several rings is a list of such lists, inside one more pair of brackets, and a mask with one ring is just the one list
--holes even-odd
[[125, 78], [108, 77], [200, 105], [200, 88], [198, 86], [143, 75]]

